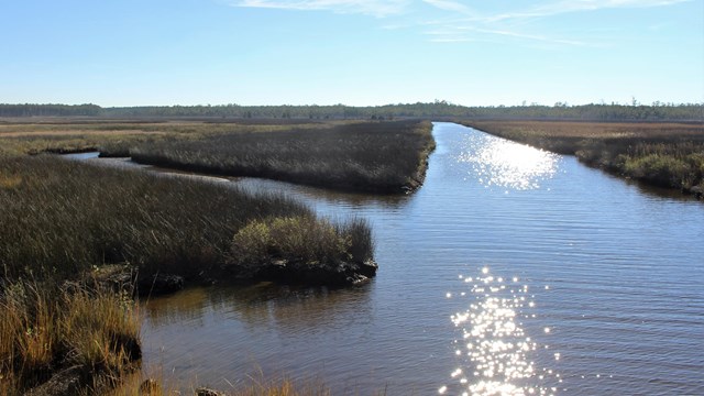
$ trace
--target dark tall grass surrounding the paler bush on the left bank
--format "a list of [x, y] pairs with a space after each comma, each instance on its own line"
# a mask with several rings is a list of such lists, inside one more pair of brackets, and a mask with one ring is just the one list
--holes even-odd
[[[70, 278], [92, 265], [130, 263], [142, 273], [198, 277], [237, 273], [232, 240], [253, 221], [296, 218], [292, 235], [329, 232], [329, 223], [282, 195], [251, 195], [227, 183], [113, 169], [52, 156], [0, 155], [0, 276]], [[268, 221], [268, 220], [267, 220]], [[311, 233], [310, 227], [319, 224]], [[359, 223], [336, 224], [354, 234], [345, 257], [369, 258], [371, 235]], [[354, 232], [353, 232], [354, 231]], [[344, 237], [348, 238], [348, 237]], [[306, 257], [308, 243], [292, 245]], [[366, 246], [366, 248], [364, 248]], [[328, 257], [340, 257], [338, 248]], [[352, 253], [354, 252], [354, 253]], [[310, 261], [310, 260], [308, 260]]]

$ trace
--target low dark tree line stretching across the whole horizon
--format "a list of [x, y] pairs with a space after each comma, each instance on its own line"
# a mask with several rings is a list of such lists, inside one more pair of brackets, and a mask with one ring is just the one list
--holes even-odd
[[1, 105], [0, 117], [106, 117], [106, 118], [241, 118], [241, 119], [372, 119], [470, 118], [520, 120], [591, 121], [704, 121], [704, 103], [630, 105], [591, 103], [569, 106], [487, 106], [466, 107], [435, 102], [398, 103], [374, 107], [332, 106], [139, 106], [102, 108], [97, 105]]

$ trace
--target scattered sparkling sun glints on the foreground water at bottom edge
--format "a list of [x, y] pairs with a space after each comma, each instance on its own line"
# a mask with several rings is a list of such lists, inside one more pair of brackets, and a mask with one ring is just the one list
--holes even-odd
[[[451, 320], [462, 332], [462, 339], [454, 341], [454, 354], [462, 363], [450, 374], [452, 383], [438, 393], [553, 395], [554, 387], [536, 384], [552, 375], [552, 370], [537, 372], [530, 355], [538, 343], [526, 334], [520, 321], [528, 317], [525, 310], [535, 307], [528, 286], [520, 285], [517, 277], [495, 277], [487, 267], [481, 272], [482, 276], [460, 277], [470, 287], [469, 309], [452, 315]], [[448, 295], [455, 298], [458, 294]], [[549, 332], [544, 328], [544, 333]], [[556, 353], [554, 359], [559, 360], [560, 354]]]

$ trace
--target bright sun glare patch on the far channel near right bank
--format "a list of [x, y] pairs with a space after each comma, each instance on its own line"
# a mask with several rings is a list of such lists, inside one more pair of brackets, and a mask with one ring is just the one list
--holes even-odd
[[560, 155], [493, 136], [471, 138], [458, 158], [472, 166], [471, 174], [484, 186], [516, 190], [537, 189], [552, 177]]

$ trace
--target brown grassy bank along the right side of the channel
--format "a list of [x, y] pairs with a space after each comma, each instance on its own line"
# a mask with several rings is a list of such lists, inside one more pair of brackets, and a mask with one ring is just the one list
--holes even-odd
[[462, 121], [595, 167], [683, 191], [704, 187], [704, 124], [564, 121]]

